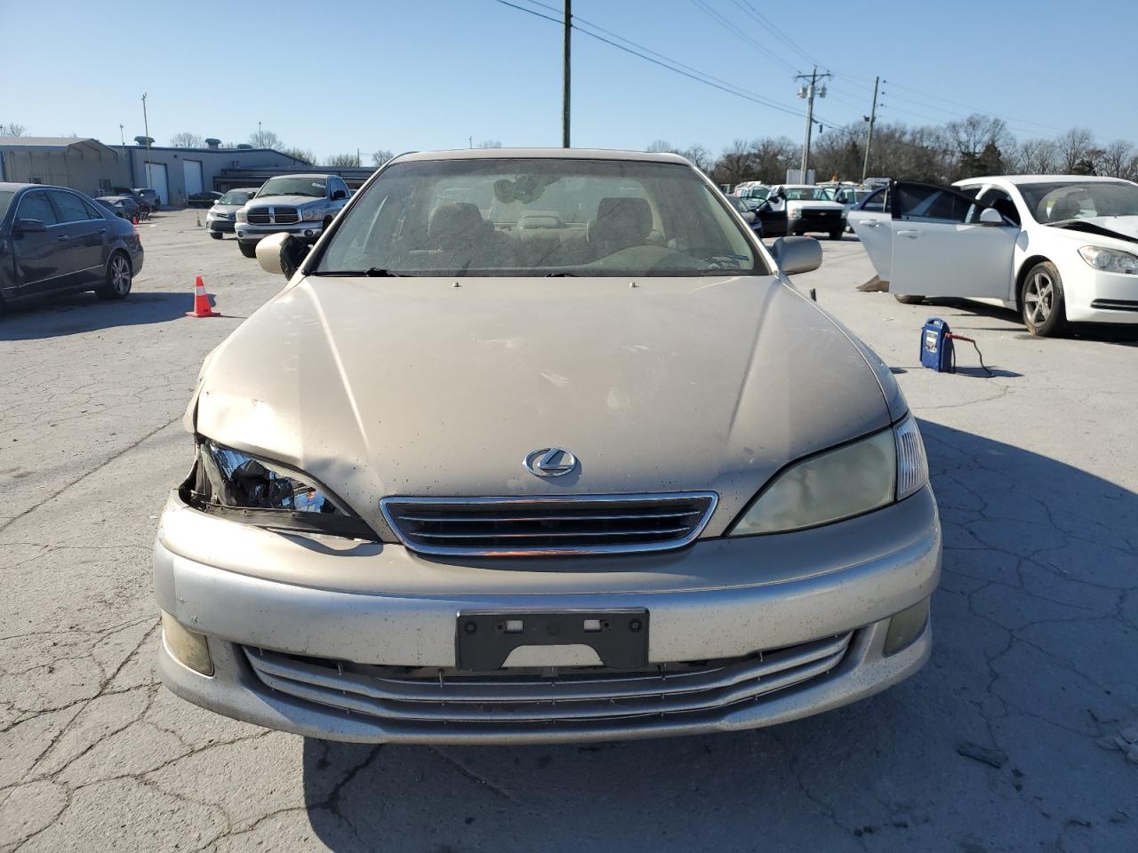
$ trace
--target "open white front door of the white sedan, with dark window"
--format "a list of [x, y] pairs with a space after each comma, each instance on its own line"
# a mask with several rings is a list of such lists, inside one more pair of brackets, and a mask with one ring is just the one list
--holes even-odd
[[1007, 298], [1019, 227], [979, 222], [951, 187], [897, 181], [891, 194], [891, 293]]

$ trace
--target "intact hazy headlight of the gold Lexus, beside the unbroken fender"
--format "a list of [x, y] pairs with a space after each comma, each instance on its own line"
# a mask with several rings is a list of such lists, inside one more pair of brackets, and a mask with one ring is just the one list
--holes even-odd
[[776, 533], [830, 524], [901, 500], [929, 481], [913, 415], [783, 471], [759, 492], [728, 536]]

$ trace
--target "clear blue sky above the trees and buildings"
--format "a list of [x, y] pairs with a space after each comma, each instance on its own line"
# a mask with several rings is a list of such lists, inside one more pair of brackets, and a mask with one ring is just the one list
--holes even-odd
[[[582, 18], [791, 110], [575, 33], [574, 144], [643, 148], [665, 139], [717, 154], [736, 138], [798, 140], [802, 101], [787, 66], [809, 71], [810, 60], [748, 16], [748, 2], [834, 73], [816, 107], [826, 121], [868, 113], [880, 74], [891, 83], [884, 121], [934, 124], [980, 107], [1021, 138], [1080, 125], [1100, 141], [1138, 142], [1128, 94], [1138, 82], [1132, 0], [574, 0]], [[470, 138], [561, 141], [561, 30], [495, 0], [113, 6], [3, 3], [9, 76], [0, 122], [104, 142], [118, 141], [122, 123], [130, 140], [142, 133], [145, 91], [159, 144], [179, 131], [244, 142], [258, 121], [318, 156], [465, 147]], [[134, 49], [157, 58], [132, 68]]]

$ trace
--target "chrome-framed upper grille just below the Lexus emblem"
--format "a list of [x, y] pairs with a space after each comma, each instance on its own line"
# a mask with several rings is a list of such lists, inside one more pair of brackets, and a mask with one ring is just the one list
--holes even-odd
[[396, 536], [438, 555], [555, 556], [665, 550], [700, 535], [715, 492], [531, 498], [384, 498]]

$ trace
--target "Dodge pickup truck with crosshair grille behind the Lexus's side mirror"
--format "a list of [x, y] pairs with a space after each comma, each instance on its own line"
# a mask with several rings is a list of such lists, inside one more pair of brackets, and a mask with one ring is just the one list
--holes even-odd
[[278, 175], [237, 212], [237, 242], [247, 258], [256, 257], [261, 239], [286, 231], [316, 242], [352, 193], [339, 175]]

